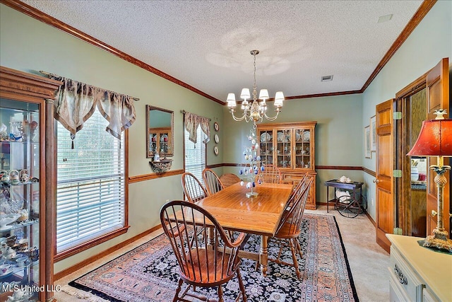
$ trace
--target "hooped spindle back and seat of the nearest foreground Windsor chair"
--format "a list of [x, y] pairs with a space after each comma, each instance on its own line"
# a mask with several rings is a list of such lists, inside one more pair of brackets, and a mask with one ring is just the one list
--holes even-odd
[[[184, 281], [208, 287], [234, 277], [240, 264], [238, 252], [244, 233], [231, 242], [215, 217], [197, 204], [182, 200], [165, 204], [160, 210], [160, 221]], [[201, 233], [194, 232], [195, 228], [202, 229]]]

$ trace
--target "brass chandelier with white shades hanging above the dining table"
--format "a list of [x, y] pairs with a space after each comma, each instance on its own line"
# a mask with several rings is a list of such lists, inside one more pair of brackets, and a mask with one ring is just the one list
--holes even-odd
[[256, 127], [256, 122], [263, 120], [263, 117], [266, 117], [267, 120], [273, 121], [278, 117], [281, 108], [283, 108], [283, 100], [284, 94], [283, 91], [278, 91], [275, 93], [275, 102], [273, 105], [276, 108], [276, 115], [274, 117], [269, 117], [267, 115], [267, 103], [266, 100], [268, 97], [267, 89], [261, 89], [259, 92], [259, 100], [257, 100], [257, 86], [256, 86], [256, 55], [259, 53], [258, 50], [251, 50], [250, 52], [254, 56], [254, 85], [253, 85], [253, 99], [248, 102], [251, 98], [249, 94], [249, 88], [243, 88], [242, 93], [240, 93], [240, 98], [243, 99], [242, 107], [243, 115], [242, 117], [236, 117], [234, 115], [235, 108], [237, 107], [237, 102], [235, 101], [235, 93], [227, 94], [227, 107], [230, 108], [230, 112], [232, 117], [237, 122], [245, 120], [246, 122], [253, 121], [254, 127]]

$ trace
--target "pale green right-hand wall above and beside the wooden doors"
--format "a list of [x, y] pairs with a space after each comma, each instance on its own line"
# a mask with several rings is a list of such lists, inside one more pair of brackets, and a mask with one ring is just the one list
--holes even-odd
[[[375, 115], [375, 106], [396, 97], [396, 93], [422, 76], [444, 58], [449, 58], [452, 70], [452, 1], [437, 1], [410, 37], [363, 93], [362, 128]], [[450, 82], [452, 83], [452, 82]], [[364, 152], [364, 149], [363, 149]], [[363, 158], [364, 167], [375, 171], [375, 153]], [[409, 176], [408, 176], [409, 177]], [[376, 219], [375, 185], [371, 175], [364, 173], [369, 187], [369, 214]], [[371, 200], [374, 204], [371, 204]]]

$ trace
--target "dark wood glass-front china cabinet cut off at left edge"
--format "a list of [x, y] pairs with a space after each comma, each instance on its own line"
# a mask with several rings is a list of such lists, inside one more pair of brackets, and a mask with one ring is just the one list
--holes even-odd
[[0, 66], [0, 301], [52, 301], [54, 91]]

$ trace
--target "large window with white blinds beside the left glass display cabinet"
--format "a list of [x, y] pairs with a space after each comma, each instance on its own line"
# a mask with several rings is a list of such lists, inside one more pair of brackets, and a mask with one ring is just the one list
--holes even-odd
[[57, 254], [73, 255], [125, 232], [125, 134], [106, 132], [96, 109], [71, 149], [71, 135], [57, 124]]

